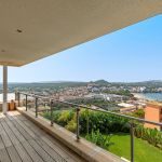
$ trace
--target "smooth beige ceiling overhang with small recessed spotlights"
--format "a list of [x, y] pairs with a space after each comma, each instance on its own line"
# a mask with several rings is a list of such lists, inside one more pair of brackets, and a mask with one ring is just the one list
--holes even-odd
[[160, 13], [162, 0], [1, 0], [0, 65], [26, 65]]

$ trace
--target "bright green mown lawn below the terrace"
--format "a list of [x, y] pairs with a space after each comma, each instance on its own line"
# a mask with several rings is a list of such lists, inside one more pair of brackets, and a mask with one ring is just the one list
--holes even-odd
[[[112, 136], [109, 151], [130, 160], [130, 135], [116, 134]], [[161, 162], [162, 151], [147, 141], [135, 137], [135, 162]]]

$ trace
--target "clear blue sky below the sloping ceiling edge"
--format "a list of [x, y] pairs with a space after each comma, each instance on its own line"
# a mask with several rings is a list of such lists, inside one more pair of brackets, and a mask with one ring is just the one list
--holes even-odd
[[9, 67], [9, 82], [100, 79], [110, 82], [162, 80], [162, 15], [26, 66]]

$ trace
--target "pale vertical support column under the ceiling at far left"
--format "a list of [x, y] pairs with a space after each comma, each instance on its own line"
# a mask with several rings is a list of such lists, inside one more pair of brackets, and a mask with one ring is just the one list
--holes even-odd
[[3, 66], [3, 113], [8, 111], [8, 66]]

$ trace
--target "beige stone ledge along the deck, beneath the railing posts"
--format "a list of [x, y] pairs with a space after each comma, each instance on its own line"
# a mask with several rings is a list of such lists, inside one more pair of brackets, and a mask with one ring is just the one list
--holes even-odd
[[18, 107], [17, 111], [87, 161], [125, 162], [116, 154], [104, 150], [103, 148], [85, 140], [84, 138], [81, 138], [80, 141], [77, 141], [76, 134], [67, 131], [56, 123], [54, 123], [54, 126], [51, 126], [49, 120], [40, 116], [36, 118], [33, 112], [25, 111], [24, 107]]

